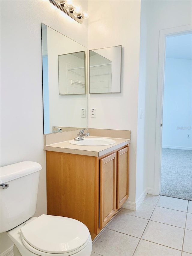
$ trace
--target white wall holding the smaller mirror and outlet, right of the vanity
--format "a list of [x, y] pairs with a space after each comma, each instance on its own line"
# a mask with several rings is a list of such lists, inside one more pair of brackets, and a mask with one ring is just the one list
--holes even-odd
[[88, 127], [131, 130], [128, 200], [135, 202], [140, 1], [100, 2], [88, 1], [88, 49], [122, 45], [122, 92], [88, 95]]

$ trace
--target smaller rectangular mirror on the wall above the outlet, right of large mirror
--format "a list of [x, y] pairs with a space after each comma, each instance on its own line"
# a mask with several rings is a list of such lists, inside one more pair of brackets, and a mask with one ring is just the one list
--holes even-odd
[[121, 92], [122, 46], [89, 50], [89, 93]]

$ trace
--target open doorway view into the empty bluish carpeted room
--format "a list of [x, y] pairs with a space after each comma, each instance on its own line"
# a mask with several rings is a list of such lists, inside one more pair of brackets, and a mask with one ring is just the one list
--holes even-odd
[[160, 194], [192, 200], [192, 34], [166, 38]]

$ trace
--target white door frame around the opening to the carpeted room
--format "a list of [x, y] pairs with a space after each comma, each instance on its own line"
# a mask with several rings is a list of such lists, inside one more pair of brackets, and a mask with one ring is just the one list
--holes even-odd
[[176, 35], [185, 35], [192, 32], [192, 24], [159, 31], [159, 62], [158, 62], [158, 91], [155, 135], [155, 174], [154, 194], [159, 195], [161, 190], [161, 153], [162, 153], [162, 123], [163, 123], [163, 96], [165, 73], [166, 38]]

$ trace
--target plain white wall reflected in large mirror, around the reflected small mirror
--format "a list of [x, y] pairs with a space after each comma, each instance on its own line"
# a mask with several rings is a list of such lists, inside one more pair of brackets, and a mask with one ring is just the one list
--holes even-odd
[[81, 118], [80, 112], [87, 108], [86, 94], [59, 95], [58, 86], [58, 55], [86, 50], [86, 47], [47, 27], [49, 133], [52, 133], [52, 126], [87, 127], [87, 119]]

